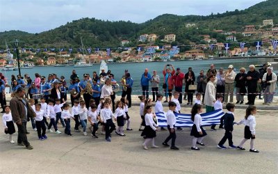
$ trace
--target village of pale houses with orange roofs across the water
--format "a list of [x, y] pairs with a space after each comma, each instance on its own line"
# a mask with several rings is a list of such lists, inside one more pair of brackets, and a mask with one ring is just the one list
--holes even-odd
[[[195, 23], [185, 24], [186, 28], [198, 29]], [[190, 45], [173, 45], [177, 39], [177, 35], [169, 33], [164, 35], [163, 41], [165, 45], [159, 47], [154, 45], [158, 40], [156, 33], [145, 33], [138, 37], [138, 41], [143, 44], [137, 47], [126, 47], [130, 44], [130, 40], [122, 40], [120, 45], [122, 47], [116, 49], [99, 49], [97, 52], [88, 52], [87, 49], [83, 50], [85, 53], [80, 52], [79, 49], [28, 49], [22, 48], [19, 50], [21, 66], [44, 66], [44, 65], [57, 65], [69, 64], [72, 65], [81, 59], [85, 59], [87, 63], [100, 63], [101, 60], [110, 63], [124, 63], [124, 62], [145, 62], [145, 61], [178, 61], [178, 60], [192, 60], [204, 59], [222, 56], [271, 56], [277, 55], [277, 51], [272, 47], [272, 40], [278, 40], [278, 26], [273, 24], [272, 19], [263, 20], [262, 24], [245, 25], [242, 32], [238, 31], [223, 31], [213, 30], [213, 33], [224, 35], [226, 42], [218, 42], [216, 38], [211, 35], [200, 35], [202, 37], [202, 44], [190, 42]], [[240, 42], [245, 40], [253, 40], [247, 42], [249, 47], [240, 48], [238, 37], [242, 38]], [[254, 47], [254, 41], [261, 41], [259, 52]], [[224, 43], [230, 43], [228, 52], [226, 52]], [[278, 44], [277, 44], [278, 45]], [[211, 47], [213, 46], [213, 47]], [[188, 47], [185, 52], [180, 52], [182, 47]], [[44, 51], [41, 51], [44, 50]], [[88, 49], [89, 50], [89, 49]], [[92, 50], [90, 48], [90, 50]], [[15, 55], [15, 53], [14, 53]], [[6, 58], [7, 53], [0, 53], [0, 66], [3, 67], [9, 63]], [[15, 56], [14, 56], [15, 57]], [[17, 61], [13, 61], [17, 66]]]

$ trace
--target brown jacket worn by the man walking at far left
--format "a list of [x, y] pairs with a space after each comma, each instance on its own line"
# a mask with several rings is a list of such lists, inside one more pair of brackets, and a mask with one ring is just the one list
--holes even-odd
[[30, 104], [28, 104], [27, 100], [24, 98], [20, 98], [17, 96], [17, 94], [15, 94], [15, 97], [10, 100], [10, 110], [12, 112], [14, 122], [18, 122], [19, 120], [24, 122], [27, 121], [27, 118], [24, 114], [25, 106], [22, 100], [26, 102], [27, 118], [35, 118], [35, 112], [31, 108]]

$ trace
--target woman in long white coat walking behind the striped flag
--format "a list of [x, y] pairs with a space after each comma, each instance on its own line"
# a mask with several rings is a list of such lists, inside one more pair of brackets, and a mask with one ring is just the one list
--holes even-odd
[[208, 83], [206, 84], [206, 93], [204, 93], [204, 104], [206, 105], [206, 112], [210, 112], [214, 111], [216, 88], [213, 82], [215, 81], [215, 75], [211, 74], [207, 80]]

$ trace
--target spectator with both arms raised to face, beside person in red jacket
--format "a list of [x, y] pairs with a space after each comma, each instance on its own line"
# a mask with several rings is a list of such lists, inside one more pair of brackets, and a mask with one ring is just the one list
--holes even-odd
[[[169, 66], [169, 68], [167, 68], [167, 66]], [[172, 70], [170, 70], [170, 67], [172, 68]], [[168, 102], [168, 96], [169, 96], [169, 102], [172, 99], [172, 90], [174, 88], [174, 82], [172, 80], [173, 75], [174, 75], [174, 66], [165, 65], [163, 70], [163, 76], [164, 76], [163, 89], [165, 92], [166, 100], [164, 102]]]

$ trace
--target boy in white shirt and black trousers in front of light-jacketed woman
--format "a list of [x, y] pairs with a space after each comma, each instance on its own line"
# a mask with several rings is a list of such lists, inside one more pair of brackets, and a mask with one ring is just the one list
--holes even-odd
[[111, 133], [115, 130], [115, 125], [113, 123], [112, 117], [116, 120], [114, 114], [109, 108], [110, 102], [106, 100], [104, 102], [104, 109], [100, 111], [100, 122], [105, 123], [105, 140], [111, 142]]

